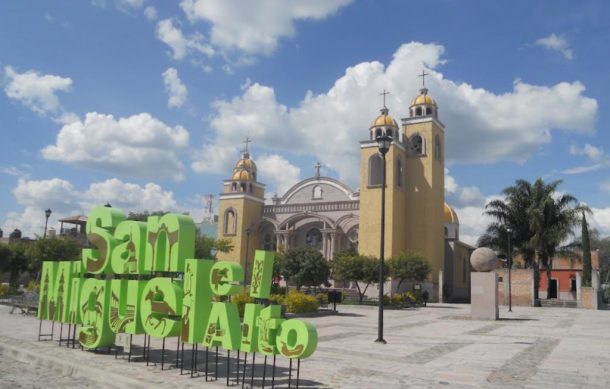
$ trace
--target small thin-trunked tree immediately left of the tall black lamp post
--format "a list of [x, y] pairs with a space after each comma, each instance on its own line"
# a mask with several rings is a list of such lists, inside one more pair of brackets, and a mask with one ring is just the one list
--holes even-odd
[[[333, 279], [356, 284], [358, 302], [362, 304], [369, 285], [379, 280], [379, 260], [374, 257], [358, 255], [355, 251], [342, 251], [335, 254], [332, 261]], [[387, 273], [384, 273], [387, 274]], [[360, 283], [364, 284], [361, 288]]]

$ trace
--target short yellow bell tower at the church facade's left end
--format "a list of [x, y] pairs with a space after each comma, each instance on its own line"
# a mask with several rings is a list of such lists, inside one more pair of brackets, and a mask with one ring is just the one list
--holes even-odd
[[231, 178], [224, 180], [223, 193], [218, 203], [218, 238], [227, 239], [233, 246], [230, 253], [219, 252], [222, 261], [234, 261], [245, 266], [246, 258], [252, 263], [258, 234], [254, 231], [263, 216], [265, 185], [257, 181], [256, 164], [250, 159], [248, 143], [242, 158], [233, 168]]

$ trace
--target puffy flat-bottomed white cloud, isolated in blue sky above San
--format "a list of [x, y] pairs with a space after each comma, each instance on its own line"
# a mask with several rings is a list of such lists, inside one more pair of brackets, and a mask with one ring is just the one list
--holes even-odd
[[64, 124], [56, 144], [46, 146], [42, 155], [114, 174], [181, 180], [178, 152], [188, 141], [184, 127], [170, 127], [148, 113], [115, 119], [89, 112], [84, 120]]

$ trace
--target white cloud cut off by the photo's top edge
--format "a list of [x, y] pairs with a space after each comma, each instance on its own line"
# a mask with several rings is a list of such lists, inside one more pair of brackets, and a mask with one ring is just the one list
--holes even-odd
[[351, 0], [183, 0], [189, 20], [211, 24], [212, 43], [224, 50], [270, 54], [278, 40], [295, 33], [295, 22], [319, 20], [336, 13]]

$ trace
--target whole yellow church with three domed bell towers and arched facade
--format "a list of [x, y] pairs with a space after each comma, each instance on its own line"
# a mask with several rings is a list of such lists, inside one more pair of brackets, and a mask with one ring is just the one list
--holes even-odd
[[[445, 203], [445, 125], [436, 101], [422, 87], [400, 125], [384, 106], [360, 142], [360, 188], [315, 175], [265, 202], [265, 185], [246, 147], [219, 196], [218, 238], [231, 242], [220, 260], [242, 265], [254, 250], [310, 246], [326, 259], [348, 248], [379, 257], [383, 159], [376, 138], [392, 138], [386, 154], [385, 258], [416, 252], [432, 266], [423, 285], [432, 301], [468, 301], [470, 253], [459, 240], [459, 220]], [[246, 143], [247, 146], [247, 143]], [[391, 281], [390, 281], [391, 283]], [[393, 293], [390, 285], [386, 290]]]

